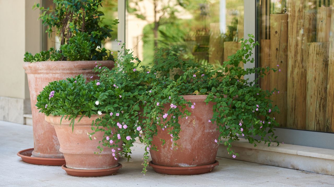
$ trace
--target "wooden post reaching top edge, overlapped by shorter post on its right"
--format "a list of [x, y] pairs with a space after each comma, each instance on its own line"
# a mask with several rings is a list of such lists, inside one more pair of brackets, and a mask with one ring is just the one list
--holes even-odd
[[288, 26], [287, 127], [306, 128], [307, 43], [315, 41], [314, 0], [290, 0]]

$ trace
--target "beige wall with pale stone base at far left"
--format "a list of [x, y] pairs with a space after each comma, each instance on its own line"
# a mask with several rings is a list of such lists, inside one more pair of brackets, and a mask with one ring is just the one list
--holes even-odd
[[0, 0], [0, 120], [24, 123], [31, 113], [27, 76], [22, 68], [26, 51], [41, 49], [41, 0]]

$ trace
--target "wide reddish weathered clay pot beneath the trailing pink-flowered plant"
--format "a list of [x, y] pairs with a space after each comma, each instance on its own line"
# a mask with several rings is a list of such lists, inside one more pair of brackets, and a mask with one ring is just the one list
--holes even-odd
[[[158, 151], [150, 150], [153, 164], [177, 168], [205, 166], [215, 163], [218, 144], [214, 142], [214, 139], [218, 138], [219, 131], [216, 130], [217, 125], [215, 123], [208, 122], [213, 116], [212, 106], [214, 103], [206, 104], [204, 102], [206, 96], [183, 95], [185, 100], [195, 102], [196, 105], [194, 109], [187, 108], [191, 112], [188, 119], [179, 117], [179, 124], [181, 125], [180, 139], [177, 140], [179, 147], [177, 150], [174, 149], [168, 129], [162, 130], [159, 128], [158, 134], [153, 137], [152, 142], [153, 145], [157, 146]], [[167, 113], [170, 104], [164, 104], [164, 107]], [[164, 145], [162, 145], [160, 138], [166, 140]]]

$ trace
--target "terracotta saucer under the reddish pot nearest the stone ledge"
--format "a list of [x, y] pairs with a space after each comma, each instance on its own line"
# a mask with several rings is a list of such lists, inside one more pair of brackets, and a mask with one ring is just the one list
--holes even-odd
[[202, 173], [208, 173], [213, 170], [214, 166], [218, 165], [219, 162], [215, 160], [213, 164], [204, 166], [191, 166], [191, 167], [172, 167], [172, 166], [161, 166], [153, 164], [152, 161], [149, 165], [153, 167], [157, 173], [168, 174], [168, 175], [197, 175]]

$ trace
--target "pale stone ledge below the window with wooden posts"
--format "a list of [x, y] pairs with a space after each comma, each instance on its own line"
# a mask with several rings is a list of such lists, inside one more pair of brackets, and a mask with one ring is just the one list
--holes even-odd
[[[233, 142], [232, 149], [239, 153], [237, 160], [334, 175], [333, 149], [291, 144], [272, 144], [270, 147], [257, 144], [254, 147], [243, 138]], [[217, 156], [232, 158], [223, 144], [219, 146]]]

